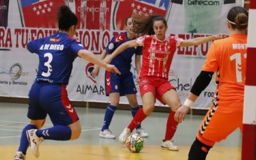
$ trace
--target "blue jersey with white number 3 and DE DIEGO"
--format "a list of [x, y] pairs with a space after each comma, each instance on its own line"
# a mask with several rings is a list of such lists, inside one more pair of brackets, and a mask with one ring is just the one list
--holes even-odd
[[58, 84], [68, 84], [77, 52], [84, 49], [77, 40], [61, 32], [33, 40], [27, 48], [39, 56], [36, 81]]

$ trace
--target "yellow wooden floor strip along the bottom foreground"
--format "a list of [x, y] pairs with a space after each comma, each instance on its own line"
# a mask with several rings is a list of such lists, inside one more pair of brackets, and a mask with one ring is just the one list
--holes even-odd
[[[140, 153], [131, 153], [125, 145], [41, 145], [40, 157], [35, 158], [28, 150], [27, 159], [188, 159], [189, 146], [179, 146], [179, 151], [162, 150], [159, 145], [146, 145]], [[1, 159], [12, 159], [17, 146], [1, 146]], [[214, 147], [208, 160], [238, 160], [241, 159], [240, 147]]]

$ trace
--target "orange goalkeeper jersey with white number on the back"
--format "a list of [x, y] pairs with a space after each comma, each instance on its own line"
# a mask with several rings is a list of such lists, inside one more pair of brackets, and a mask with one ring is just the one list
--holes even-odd
[[[216, 81], [219, 82], [216, 92], [221, 101], [232, 103], [244, 99], [246, 44], [247, 36], [237, 34], [215, 40], [209, 49], [202, 70], [216, 72]], [[225, 106], [221, 107], [225, 108]], [[236, 108], [233, 105], [228, 105], [224, 110], [226, 109], [228, 111], [243, 111], [243, 108]]]

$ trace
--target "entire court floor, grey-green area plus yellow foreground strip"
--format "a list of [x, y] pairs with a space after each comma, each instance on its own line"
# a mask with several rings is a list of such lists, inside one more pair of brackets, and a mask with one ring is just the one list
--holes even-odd
[[[20, 133], [29, 120], [26, 118], [28, 104], [0, 103], [0, 154], [1, 159], [13, 159], [20, 140]], [[144, 138], [144, 148], [140, 153], [131, 153], [116, 139], [99, 137], [105, 109], [75, 107], [81, 120], [82, 133], [78, 140], [51, 141], [40, 144], [40, 157], [35, 158], [28, 149], [27, 159], [188, 159], [188, 152], [202, 118], [200, 115], [187, 115], [179, 125], [174, 140], [179, 151], [161, 149], [168, 113], [154, 112], [143, 121], [142, 127], [148, 132]], [[119, 136], [131, 120], [131, 112], [117, 109], [110, 129]], [[51, 127], [47, 118], [44, 127]], [[237, 129], [227, 140], [217, 143], [209, 152], [207, 160], [241, 159], [241, 132]]]

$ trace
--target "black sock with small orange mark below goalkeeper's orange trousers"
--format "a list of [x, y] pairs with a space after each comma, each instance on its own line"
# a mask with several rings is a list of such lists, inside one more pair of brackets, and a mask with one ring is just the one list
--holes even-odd
[[205, 160], [211, 148], [196, 138], [189, 150], [188, 160]]

